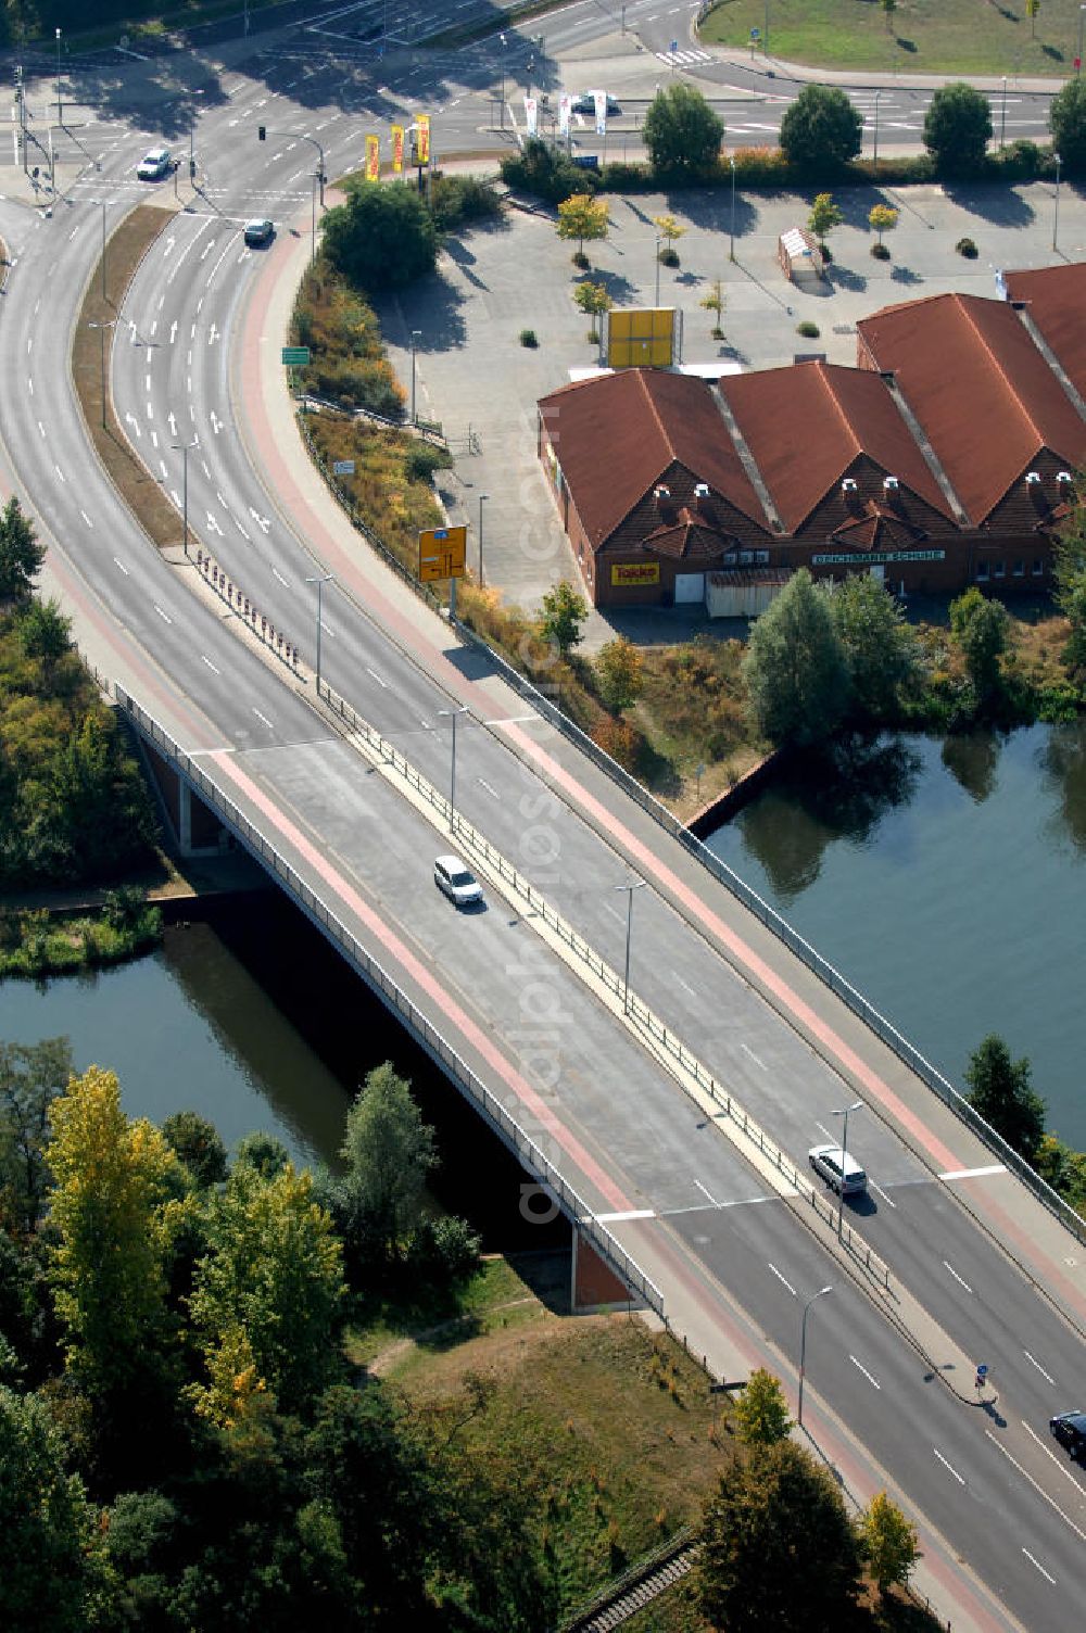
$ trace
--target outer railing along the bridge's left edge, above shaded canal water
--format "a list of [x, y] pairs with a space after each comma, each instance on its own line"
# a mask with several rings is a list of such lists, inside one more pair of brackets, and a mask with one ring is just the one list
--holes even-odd
[[[472, 1099], [483, 1115], [498, 1128], [505, 1143], [524, 1163], [529, 1172], [547, 1186], [560, 1202], [563, 1212], [581, 1226], [593, 1246], [606, 1257], [621, 1279], [640, 1298], [650, 1305], [656, 1315], [663, 1315], [663, 1293], [656, 1284], [645, 1275], [635, 1259], [621, 1246], [608, 1226], [596, 1218], [583, 1197], [562, 1177], [547, 1156], [539, 1150], [532, 1137], [506, 1110], [501, 1101], [490, 1092], [487, 1084], [477, 1076], [467, 1061], [438, 1032], [433, 1022], [412, 1003], [403, 988], [389, 972], [361, 946], [346, 924], [320, 900], [305, 883], [294, 867], [276, 851], [276, 848], [260, 833], [258, 828], [238, 810], [234, 800], [214, 782], [212, 777], [189, 754], [180, 748], [168, 732], [147, 714], [147, 710], [131, 697], [122, 686], [114, 684], [118, 705], [132, 720], [136, 728], [158, 748], [191, 784], [199, 797], [222, 818], [225, 826], [237, 834], [242, 844], [251, 851], [271, 872], [287, 887], [291, 895], [340, 950], [354, 965], [358, 973], [385, 998], [390, 1008], [407, 1022], [426, 1052], [438, 1060], [452, 1076], [469, 1099]], [[372, 728], [371, 728], [372, 730]], [[400, 756], [402, 759], [403, 756]]]

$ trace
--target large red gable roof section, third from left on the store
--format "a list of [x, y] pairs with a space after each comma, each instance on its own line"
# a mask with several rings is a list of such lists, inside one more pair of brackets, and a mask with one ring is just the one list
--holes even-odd
[[1044, 449], [1075, 467], [1086, 421], [1003, 300], [932, 296], [856, 325], [892, 371], [973, 526]]

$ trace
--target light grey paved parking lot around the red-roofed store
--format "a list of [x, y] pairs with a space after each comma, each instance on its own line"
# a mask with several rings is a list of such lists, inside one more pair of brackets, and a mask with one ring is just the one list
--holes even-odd
[[[590, 273], [572, 266], [572, 245], [559, 240], [554, 212], [513, 207], [501, 225], [454, 237], [438, 274], [382, 305], [389, 353], [410, 392], [410, 333], [416, 340], [418, 413], [439, 420], [456, 467], [444, 474], [449, 519], [467, 523], [469, 563], [477, 568], [480, 496], [483, 500], [483, 572], [505, 598], [536, 609], [559, 578], [575, 581], [572, 552], [536, 457], [536, 400], [591, 366], [590, 320], [573, 304], [578, 278], [604, 283], [619, 307], [656, 300], [656, 227], [673, 214], [686, 229], [678, 240], [681, 265], [658, 268], [661, 305], [683, 315], [683, 361], [764, 369], [792, 363], [797, 353], [823, 353], [831, 363], [856, 361], [854, 325], [882, 305], [962, 291], [996, 296], [998, 269], [1048, 266], [1086, 258], [1086, 198], [1066, 181], [1017, 188], [942, 186], [849, 188], [835, 194], [844, 224], [830, 235], [830, 281], [800, 289], [776, 258], [777, 238], [807, 220], [810, 198], [737, 191], [637, 194], [611, 204], [611, 230], [588, 243]], [[527, 202], [527, 201], [526, 201]], [[875, 234], [867, 214], [875, 202], [897, 209], [887, 234], [890, 260], [870, 255]], [[728, 258], [735, 227], [735, 261]], [[1053, 235], [1057, 250], [1053, 251]], [[977, 260], [955, 253], [959, 238], [977, 243]], [[701, 307], [715, 279], [723, 286], [723, 341], [714, 341], [715, 317]], [[818, 325], [802, 338], [797, 325]], [[521, 346], [532, 328], [537, 349]], [[983, 410], [983, 405], [978, 405]], [[622, 451], [616, 449], [616, 459]], [[704, 622], [686, 609], [624, 617], [627, 634], [665, 640]], [[612, 634], [593, 614], [591, 648]]]

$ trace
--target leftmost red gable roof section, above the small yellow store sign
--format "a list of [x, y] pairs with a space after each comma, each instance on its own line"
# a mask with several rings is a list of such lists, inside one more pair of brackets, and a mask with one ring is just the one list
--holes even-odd
[[594, 549], [676, 462], [759, 527], [768, 526], [702, 379], [622, 369], [541, 397], [539, 412]]

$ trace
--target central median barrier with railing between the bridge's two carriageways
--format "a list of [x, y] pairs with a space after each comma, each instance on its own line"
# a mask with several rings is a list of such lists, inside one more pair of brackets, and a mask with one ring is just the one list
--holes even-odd
[[[405, 782], [415, 789], [428, 805], [431, 805], [439, 815], [449, 821], [452, 826], [452, 807], [446, 800], [444, 794], [438, 789], [420, 771], [412, 766], [412, 763], [387, 741], [363, 715], [359, 715], [345, 697], [333, 692], [325, 683], [322, 684], [320, 696], [327, 705], [338, 714], [338, 717], [349, 725], [356, 736], [363, 736], [367, 745], [381, 754], [382, 761], [394, 768], [394, 771], [405, 779]], [[705, 1065], [692, 1055], [684, 1045], [683, 1039], [668, 1027], [660, 1016], [648, 1008], [648, 1004], [637, 996], [637, 993], [625, 988], [625, 981], [612, 970], [611, 965], [596, 952], [591, 942], [585, 941], [583, 936], [562, 918], [562, 914], [547, 901], [544, 893], [532, 885], [531, 879], [526, 879], [506, 856], [487, 839], [472, 823], [469, 823], [459, 813], [456, 815], [456, 834], [465, 841], [465, 844], [482, 856], [483, 861], [495, 869], [495, 872], [527, 903], [532, 913], [552, 929], [562, 942], [578, 957], [616, 998], [622, 998], [625, 1012], [645, 1030], [648, 1035], [660, 1043], [660, 1047], [671, 1055], [679, 1066], [694, 1078], [694, 1083], [712, 1099], [714, 1106], [728, 1117], [743, 1133], [751, 1145], [758, 1146], [759, 1155], [771, 1163], [777, 1174], [792, 1186], [797, 1195], [803, 1197], [805, 1202], [818, 1213], [825, 1223], [831, 1228], [839, 1230], [839, 1239], [844, 1249], [852, 1256], [856, 1264], [862, 1266], [869, 1275], [872, 1275], [882, 1287], [890, 1287], [890, 1272], [879, 1254], [872, 1253], [867, 1243], [852, 1231], [851, 1225], [839, 1218], [838, 1212], [830, 1205], [828, 1199], [813, 1186], [805, 1174], [802, 1174], [790, 1158], [781, 1150], [776, 1141], [763, 1130], [759, 1124], [748, 1114], [746, 1107], [741, 1106], [728, 1089], [709, 1071]]]

